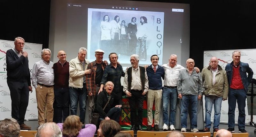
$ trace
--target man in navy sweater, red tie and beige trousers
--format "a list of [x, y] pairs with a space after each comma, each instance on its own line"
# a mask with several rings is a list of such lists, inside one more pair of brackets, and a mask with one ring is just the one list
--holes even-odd
[[[162, 98], [162, 79], [164, 79], [165, 71], [164, 68], [158, 65], [159, 57], [157, 55], [152, 55], [151, 65], [147, 67], [147, 75], [149, 81], [149, 91], [147, 95], [147, 120], [148, 127], [147, 130], [152, 129], [153, 116], [152, 108], [155, 100], [155, 115], [154, 115], [154, 130], [159, 130], [159, 119], [160, 119], [160, 105]], [[161, 79], [162, 78], [162, 79]]]

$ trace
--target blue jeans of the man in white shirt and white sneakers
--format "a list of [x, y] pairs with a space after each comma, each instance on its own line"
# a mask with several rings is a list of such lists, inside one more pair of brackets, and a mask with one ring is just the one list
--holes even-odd
[[[177, 104], [177, 88], [163, 88], [163, 121], [165, 124], [174, 125], [176, 104]], [[170, 102], [170, 103], [169, 103]], [[168, 115], [168, 103], [170, 104], [170, 115]]]

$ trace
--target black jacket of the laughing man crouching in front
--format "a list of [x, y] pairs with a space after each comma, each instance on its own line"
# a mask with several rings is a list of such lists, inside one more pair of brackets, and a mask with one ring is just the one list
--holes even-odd
[[[106, 114], [108, 113], [108, 111], [111, 108], [115, 107], [116, 105], [121, 105], [122, 99], [120, 97], [118, 97], [114, 92], [112, 92], [111, 99], [110, 99], [109, 103], [107, 104], [105, 110], [103, 110], [103, 108], [107, 102], [108, 102], [107, 92], [105, 90], [103, 90], [97, 96], [97, 105], [96, 105], [97, 111], [102, 118], [107, 117]], [[108, 116], [108, 117], [110, 117], [110, 116]]]

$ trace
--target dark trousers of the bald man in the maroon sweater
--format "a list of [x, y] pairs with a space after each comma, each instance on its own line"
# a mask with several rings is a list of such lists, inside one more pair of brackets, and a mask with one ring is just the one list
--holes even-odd
[[54, 87], [53, 122], [62, 123], [69, 116], [69, 88]]

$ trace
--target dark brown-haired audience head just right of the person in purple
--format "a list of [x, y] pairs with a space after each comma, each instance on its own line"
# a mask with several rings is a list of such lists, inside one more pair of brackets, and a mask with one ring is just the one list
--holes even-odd
[[102, 120], [98, 129], [100, 137], [114, 137], [121, 127], [115, 120]]

